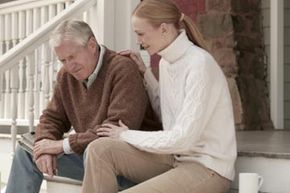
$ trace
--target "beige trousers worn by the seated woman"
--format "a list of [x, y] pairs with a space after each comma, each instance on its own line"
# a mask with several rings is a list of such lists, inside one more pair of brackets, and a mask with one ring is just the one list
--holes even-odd
[[226, 193], [230, 181], [196, 162], [100, 138], [87, 148], [83, 193], [117, 193], [116, 176], [138, 183], [122, 193]]

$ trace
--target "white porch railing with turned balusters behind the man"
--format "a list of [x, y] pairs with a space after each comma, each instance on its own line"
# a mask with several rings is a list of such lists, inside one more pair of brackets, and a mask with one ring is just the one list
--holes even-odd
[[0, 124], [11, 120], [15, 149], [17, 123], [33, 130], [35, 117], [53, 92], [60, 67], [48, 46], [63, 20], [90, 22], [97, 0], [21, 0], [0, 5]]

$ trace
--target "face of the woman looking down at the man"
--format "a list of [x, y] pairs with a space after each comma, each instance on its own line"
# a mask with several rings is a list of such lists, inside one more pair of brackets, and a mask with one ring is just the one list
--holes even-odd
[[140, 44], [150, 55], [156, 54], [168, 43], [162, 34], [162, 26], [154, 27], [146, 19], [132, 17], [132, 26], [137, 34], [137, 43]]

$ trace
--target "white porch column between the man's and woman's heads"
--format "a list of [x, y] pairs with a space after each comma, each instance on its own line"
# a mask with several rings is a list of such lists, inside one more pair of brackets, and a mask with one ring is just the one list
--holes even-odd
[[100, 43], [109, 49], [120, 51], [138, 49], [131, 28], [131, 13], [139, 0], [97, 0], [91, 25]]

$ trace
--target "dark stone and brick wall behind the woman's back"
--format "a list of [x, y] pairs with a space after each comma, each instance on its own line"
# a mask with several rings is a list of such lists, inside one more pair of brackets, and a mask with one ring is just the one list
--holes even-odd
[[[236, 128], [273, 128], [263, 60], [261, 0], [174, 1], [197, 23], [228, 79]], [[152, 57], [155, 69], [158, 61]]]

